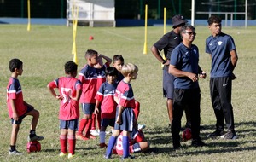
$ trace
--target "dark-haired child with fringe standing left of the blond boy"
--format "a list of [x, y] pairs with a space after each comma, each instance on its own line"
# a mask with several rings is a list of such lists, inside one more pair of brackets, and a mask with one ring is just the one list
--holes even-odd
[[[116, 113], [116, 102], [113, 99], [113, 95], [115, 93], [115, 89], [117, 84], [115, 83], [115, 79], [117, 77], [118, 71], [115, 67], [108, 67], [106, 69], [106, 77], [107, 82], [103, 83], [96, 94], [96, 114], [100, 113], [102, 116], [102, 124], [100, 131], [100, 148], [106, 148], [107, 145], [105, 143], [106, 137], [106, 129], [108, 125], [114, 126], [114, 119]], [[99, 114], [100, 115], [100, 114]]]

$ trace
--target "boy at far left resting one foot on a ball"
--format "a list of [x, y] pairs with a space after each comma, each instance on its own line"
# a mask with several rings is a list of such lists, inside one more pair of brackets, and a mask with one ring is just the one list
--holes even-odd
[[21, 153], [16, 150], [16, 141], [20, 130], [20, 124], [26, 115], [32, 116], [28, 141], [40, 141], [43, 140], [44, 137], [36, 135], [36, 127], [39, 119], [38, 110], [34, 109], [32, 105], [23, 100], [21, 85], [18, 80], [18, 76], [21, 76], [23, 72], [23, 62], [19, 59], [10, 60], [9, 70], [11, 72], [11, 77], [9, 78], [9, 83], [7, 85], [7, 106], [9, 118], [12, 123], [9, 155], [20, 155]]

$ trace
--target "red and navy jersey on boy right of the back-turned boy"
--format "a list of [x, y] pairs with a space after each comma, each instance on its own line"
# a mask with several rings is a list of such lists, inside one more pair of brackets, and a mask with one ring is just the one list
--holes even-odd
[[96, 68], [88, 64], [79, 72], [79, 80], [83, 85], [80, 103], [96, 103], [95, 95], [97, 93], [97, 72]]

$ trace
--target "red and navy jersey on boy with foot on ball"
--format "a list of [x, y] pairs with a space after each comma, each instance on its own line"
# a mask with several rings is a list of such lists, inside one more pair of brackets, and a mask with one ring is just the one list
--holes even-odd
[[20, 117], [24, 115], [26, 113], [27, 106], [24, 104], [21, 85], [17, 78], [9, 78], [9, 83], [7, 85], [7, 107], [9, 118], [13, 118], [11, 100], [15, 101], [15, 108], [18, 116]]

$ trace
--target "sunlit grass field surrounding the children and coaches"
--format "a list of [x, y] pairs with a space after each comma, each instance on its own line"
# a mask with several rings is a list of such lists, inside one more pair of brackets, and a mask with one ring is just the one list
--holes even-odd
[[[58, 157], [59, 146], [59, 102], [49, 94], [46, 85], [55, 78], [64, 75], [64, 63], [73, 60], [72, 27], [32, 26], [27, 32], [26, 26], [0, 26], [0, 161], [67, 161]], [[172, 29], [172, 26], [167, 26]], [[210, 34], [207, 26], [196, 26], [195, 44], [200, 49], [200, 64], [209, 74], [211, 61], [205, 54], [205, 39]], [[99, 53], [113, 57], [121, 54], [125, 62], [135, 63], [139, 67], [137, 80], [132, 81], [136, 98], [141, 102], [138, 123], [146, 124], [145, 136], [151, 147], [158, 148], [157, 153], [135, 154], [136, 161], [256, 161], [256, 27], [223, 28], [223, 32], [233, 36], [236, 42], [239, 60], [233, 82], [232, 103], [235, 113], [235, 125], [238, 139], [225, 141], [207, 139], [215, 127], [215, 117], [209, 96], [209, 75], [200, 80], [201, 86], [201, 137], [207, 147], [192, 148], [190, 142], [182, 142], [183, 149], [173, 151], [172, 137], [167, 129], [166, 99], [162, 97], [162, 70], [160, 62], [150, 52], [150, 47], [163, 34], [163, 27], [148, 27], [148, 55], [143, 55], [144, 28], [78, 27], [77, 50], [79, 69], [86, 61], [84, 51], [96, 49]], [[89, 36], [94, 40], [89, 40]], [[44, 136], [40, 153], [26, 153], [26, 136], [29, 132], [31, 117], [23, 120], [17, 142], [17, 149], [23, 152], [20, 157], [9, 157], [9, 136], [11, 124], [6, 107], [6, 85], [8, 84], [9, 60], [20, 58], [24, 72], [19, 77], [25, 101], [40, 111], [38, 135]], [[185, 120], [183, 119], [183, 125]], [[108, 140], [108, 136], [107, 136]], [[102, 161], [104, 150], [97, 148], [98, 139], [77, 141], [76, 157], [73, 161]], [[113, 156], [113, 161], [119, 161]]]

